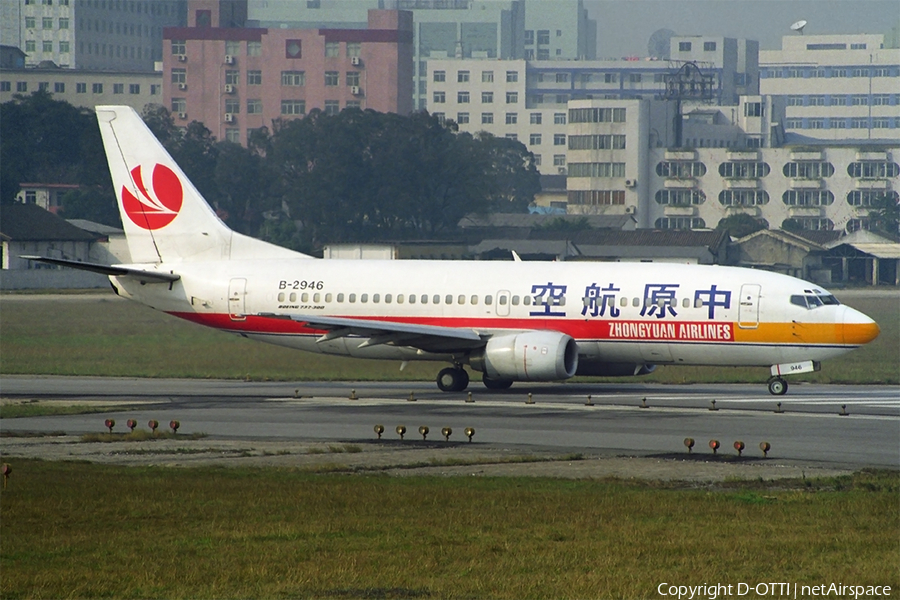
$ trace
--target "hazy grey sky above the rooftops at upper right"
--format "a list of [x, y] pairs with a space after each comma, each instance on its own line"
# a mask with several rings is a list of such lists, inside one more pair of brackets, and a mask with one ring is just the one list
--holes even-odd
[[792, 23], [805, 33], [888, 33], [900, 20], [897, 0], [585, 0], [597, 21], [598, 58], [647, 56], [657, 29], [679, 35], [721, 35], [777, 50]]

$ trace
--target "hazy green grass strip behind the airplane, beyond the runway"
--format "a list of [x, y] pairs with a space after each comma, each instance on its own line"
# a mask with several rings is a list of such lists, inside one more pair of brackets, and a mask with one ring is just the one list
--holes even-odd
[[[881, 335], [822, 371], [791, 381], [900, 383], [900, 295], [854, 297]], [[112, 296], [0, 299], [0, 372], [255, 380], [433, 380], [436, 363], [354, 360], [297, 352], [213, 331]], [[477, 377], [478, 374], [475, 374]], [[641, 381], [763, 382], [761, 368], [661, 367]]]

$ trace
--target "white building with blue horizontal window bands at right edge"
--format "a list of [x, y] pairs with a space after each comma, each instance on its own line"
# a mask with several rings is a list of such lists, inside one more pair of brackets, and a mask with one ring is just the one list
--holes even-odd
[[789, 35], [760, 51], [760, 93], [785, 98], [786, 141], [900, 141], [900, 49], [884, 45], [883, 35]]

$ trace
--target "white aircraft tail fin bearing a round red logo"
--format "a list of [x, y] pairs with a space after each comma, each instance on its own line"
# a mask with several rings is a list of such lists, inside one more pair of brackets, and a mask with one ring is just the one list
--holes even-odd
[[229, 229], [133, 108], [96, 111], [135, 263], [306, 257]]

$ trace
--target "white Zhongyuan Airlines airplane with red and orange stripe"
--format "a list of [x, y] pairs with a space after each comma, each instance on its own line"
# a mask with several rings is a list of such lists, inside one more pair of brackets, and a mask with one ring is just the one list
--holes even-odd
[[28, 257], [109, 276], [120, 296], [308, 352], [449, 363], [491, 390], [655, 365], [768, 367], [768, 390], [878, 336], [814, 283], [668, 263], [318, 259], [229, 229], [134, 109], [97, 106], [131, 264]]

